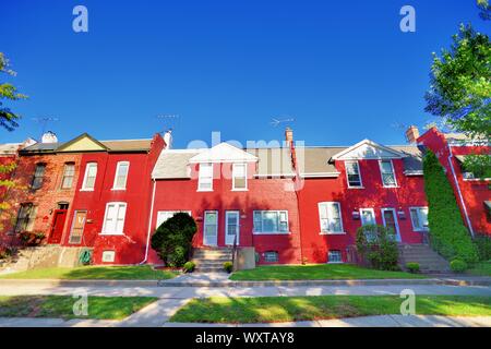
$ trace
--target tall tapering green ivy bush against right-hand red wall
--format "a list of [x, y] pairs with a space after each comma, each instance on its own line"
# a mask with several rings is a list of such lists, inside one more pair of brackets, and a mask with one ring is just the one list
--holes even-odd
[[452, 185], [431, 151], [424, 156], [423, 172], [431, 246], [448, 261], [478, 262], [476, 245], [464, 225]]

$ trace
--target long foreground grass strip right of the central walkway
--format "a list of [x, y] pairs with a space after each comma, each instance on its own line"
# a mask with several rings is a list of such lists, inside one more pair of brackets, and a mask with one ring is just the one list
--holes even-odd
[[[320, 296], [194, 299], [171, 322], [268, 323], [400, 314], [398, 296]], [[491, 298], [418, 296], [417, 314], [491, 316]]]

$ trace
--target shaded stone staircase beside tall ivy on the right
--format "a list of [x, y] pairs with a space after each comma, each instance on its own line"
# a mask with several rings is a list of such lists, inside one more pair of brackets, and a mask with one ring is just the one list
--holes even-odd
[[448, 262], [434, 252], [428, 244], [399, 244], [399, 263], [404, 268], [406, 263], [419, 263], [421, 273], [451, 273]]

